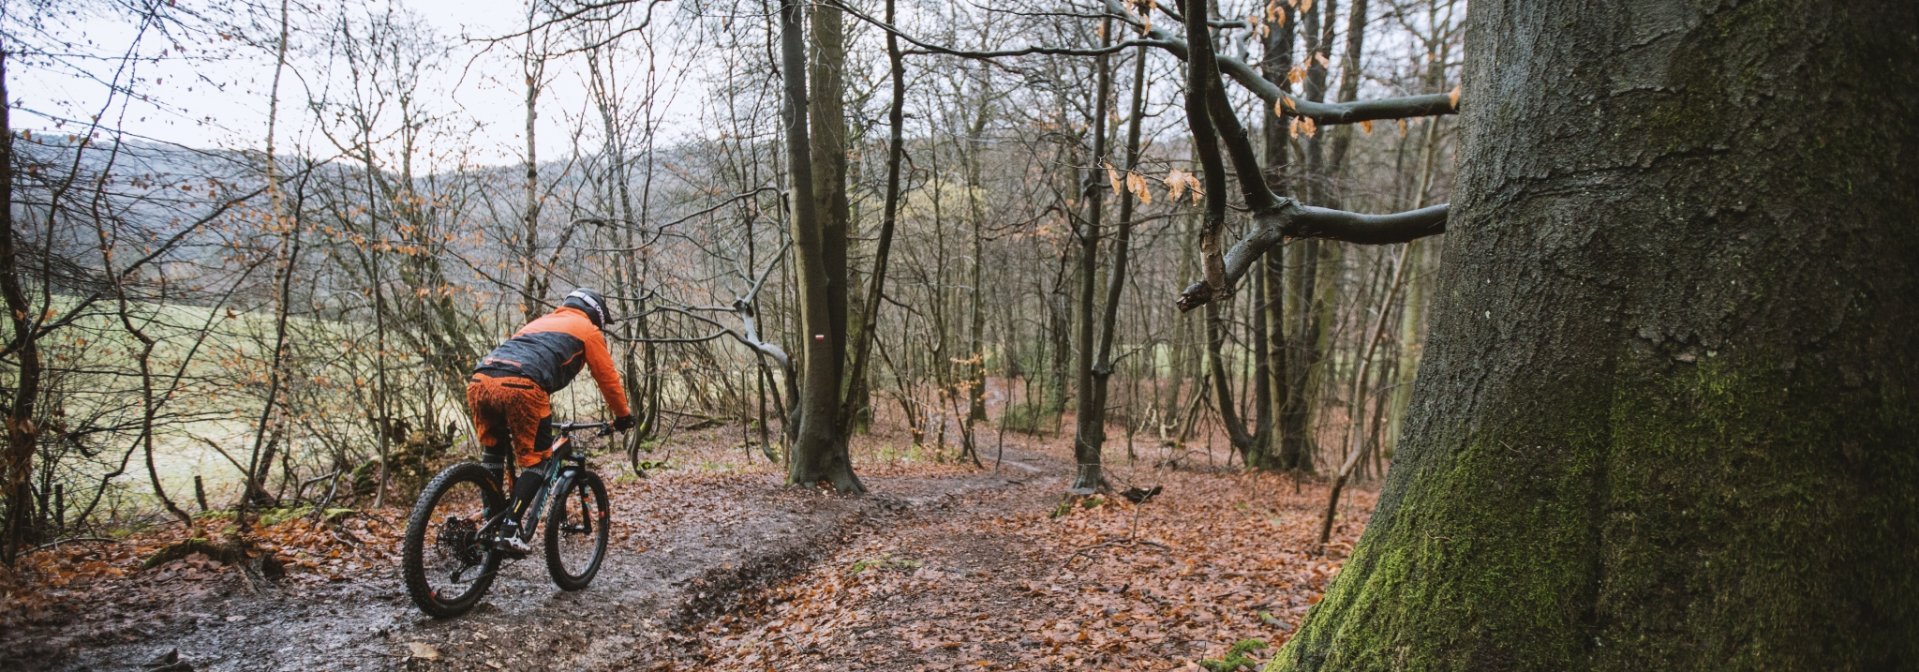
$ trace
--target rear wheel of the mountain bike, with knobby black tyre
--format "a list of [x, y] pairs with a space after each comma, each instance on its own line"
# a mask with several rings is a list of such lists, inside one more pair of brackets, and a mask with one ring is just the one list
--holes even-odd
[[407, 516], [401, 545], [407, 595], [436, 618], [464, 614], [493, 586], [501, 557], [480, 530], [507, 507], [495, 478], [474, 463], [447, 467]]

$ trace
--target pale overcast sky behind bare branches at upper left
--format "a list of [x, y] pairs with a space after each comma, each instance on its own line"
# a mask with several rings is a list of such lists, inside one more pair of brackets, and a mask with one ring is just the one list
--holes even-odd
[[[319, 132], [319, 111], [305, 102], [309, 94], [340, 96], [338, 86], [345, 81], [345, 71], [326, 58], [330, 52], [326, 40], [332, 33], [322, 21], [326, 15], [336, 15], [336, 6], [324, 0], [307, 2], [313, 2], [315, 12], [309, 12], [305, 21], [297, 19], [301, 12], [296, 2], [292, 54], [280, 84], [278, 144], [282, 154], [326, 157], [334, 154], [332, 142]], [[17, 2], [8, 4], [13, 6], [8, 12], [21, 10]], [[380, 0], [368, 4], [374, 12], [386, 8]], [[61, 8], [58, 2], [54, 6]], [[520, 161], [526, 144], [526, 88], [518, 61], [522, 40], [489, 48], [484, 38], [524, 27], [524, 0], [395, 0], [391, 6], [418, 17], [449, 48], [436, 60], [438, 67], [420, 77], [422, 108], [443, 119], [441, 132], [428, 136], [428, 150], [434, 152], [428, 161], [441, 167]], [[203, 19], [248, 27], [242, 33], [253, 38], [271, 38], [278, 27], [276, 4], [248, 13], [178, 0], [178, 12], [201, 12]], [[649, 35], [658, 40], [656, 73], [668, 79], [662, 96], [672, 96], [672, 104], [664, 109], [674, 121], [662, 134], [675, 138], [699, 132], [700, 125], [699, 96], [691, 94], [699, 88], [697, 73], [674, 58], [679, 50], [674, 48], [674, 31], [664, 21], [670, 12], [664, 10], [656, 17]], [[267, 88], [274, 65], [271, 48], [242, 38], [221, 38], [217, 33], [200, 35], [213, 31], [161, 33], [154, 27], [142, 31], [136, 17], [107, 6], [77, 4], [73, 10], [48, 12], [40, 19], [42, 27], [33, 27], [25, 17], [8, 17], [8, 33], [40, 42], [46, 52], [67, 56], [56, 56], [61, 63], [8, 63], [15, 129], [73, 132], [83, 127], [75, 121], [106, 111], [106, 127], [119, 127], [134, 136], [196, 148], [265, 146]], [[190, 25], [211, 21], [190, 21]], [[61, 42], [75, 46], [71, 50], [54, 46]], [[635, 38], [624, 42], [633, 46], [622, 56], [622, 67], [629, 73], [647, 65], [647, 54], [637, 42]], [[123, 67], [119, 58], [102, 58], [127, 54], [129, 48], [150, 60]], [[585, 109], [585, 79], [581, 58], [562, 58], [549, 65], [535, 131], [541, 159], [570, 152], [570, 127]], [[677, 84], [672, 83], [675, 79]], [[109, 88], [104, 84], [109, 81], [136, 81], [134, 90], [144, 100], [121, 96], [109, 104]]]

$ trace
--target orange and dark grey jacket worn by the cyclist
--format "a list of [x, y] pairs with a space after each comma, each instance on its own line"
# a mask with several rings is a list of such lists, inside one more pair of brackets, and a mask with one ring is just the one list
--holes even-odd
[[626, 407], [626, 388], [620, 386], [620, 371], [612, 367], [612, 353], [606, 351], [606, 336], [576, 307], [560, 307], [526, 323], [512, 338], [493, 348], [474, 372], [522, 376], [553, 394], [574, 382], [581, 365], [593, 369], [593, 380], [599, 382], [601, 397], [612, 407], [612, 415], [616, 419], [631, 415]]

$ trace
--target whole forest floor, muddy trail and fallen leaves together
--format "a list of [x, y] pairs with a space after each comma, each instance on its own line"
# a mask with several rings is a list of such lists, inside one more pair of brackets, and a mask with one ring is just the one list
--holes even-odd
[[839, 497], [781, 486], [737, 436], [675, 438], [670, 468], [612, 478], [591, 588], [555, 589], [532, 557], [449, 620], [399, 582], [399, 505], [259, 530], [276, 580], [203, 555], [140, 568], [221, 520], [44, 549], [0, 568], [0, 670], [1199, 668], [1282, 643], [1374, 503], [1347, 490], [1318, 555], [1326, 486], [1222, 453], [1109, 442], [1115, 488], [1163, 488], [1134, 505], [1063, 499], [1069, 438], [1006, 434], [996, 461], [988, 432], [979, 468], [879, 434], [854, 444], [871, 493]]

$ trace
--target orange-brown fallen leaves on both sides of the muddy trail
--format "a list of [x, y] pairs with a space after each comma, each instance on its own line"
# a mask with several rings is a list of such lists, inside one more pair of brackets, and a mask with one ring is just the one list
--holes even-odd
[[[1163, 182], [1171, 198], [1199, 186], [1182, 171]], [[685, 467], [654, 478], [614, 478], [606, 467], [618, 563], [674, 557], [672, 545], [685, 540], [674, 541], [670, 532], [687, 520], [700, 520], [702, 536], [735, 540], [764, 528], [773, 511], [806, 513], [817, 511], [819, 501], [835, 501], [785, 490], [773, 499], [743, 495], [777, 488], [779, 467], [731, 444], [735, 432], [714, 430], [723, 442], [712, 445], [675, 445], [672, 459]], [[890, 426], [879, 432], [854, 445], [860, 472], [875, 497], [912, 503], [898, 513], [873, 513], [858, 534], [810, 540], [819, 555], [798, 564], [798, 574], [725, 597], [720, 618], [681, 636], [689, 653], [674, 660], [718, 670], [844, 668], [875, 660], [929, 670], [1165, 670], [1236, 655], [1257, 662], [1274, 649], [1230, 649], [1242, 639], [1282, 645], [1338, 576], [1372, 509], [1372, 493], [1353, 492], [1334, 528], [1332, 555], [1316, 557], [1307, 549], [1318, 532], [1324, 486], [1276, 474], [1149, 468], [1144, 461], [1134, 467], [1115, 451], [1107, 468], [1119, 490], [1163, 486], [1161, 493], [1144, 505], [1117, 495], [1086, 497], [1050, 516], [1061, 501], [1061, 474], [1071, 470], [1065, 440], [1009, 444], [1009, 459], [1040, 472], [1007, 468], [1007, 476], [994, 476], [950, 461], [885, 457], [900, 455], [906, 434]], [[1025, 484], [998, 480], [1009, 474]], [[956, 488], [983, 480], [994, 486]], [[917, 497], [900, 488], [913, 488], [910, 493]], [[403, 515], [401, 507], [330, 520], [294, 515], [259, 528], [255, 545], [288, 561], [280, 591], [294, 599], [299, 589], [336, 578], [391, 576]], [[144, 593], [113, 607], [132, 612], [132, 605], [178, 603], [198, 584], [238, 582], [236, 568], [198, 555], [150, 572], [132, 570], [165, 543], [207, 534], [167, 526], [129, 540], [33, 553], [12, 570], [0, 568], [0, 620], [6, 620], [0, 626], [71, 622], [79, 609], [102, 609], [102, 597]], [[637, 551], [651, 545], [660, 549]], [[714, 576], [727, 574], [725, 561], [702, 563]], [[681, 588], [687, 595], [712, 589], [718, 588]], [[403, 603], [382, 609], [411, 614]], [[205, 618], [232, 616], [240, 614]], [[246, 612], [246, 624], [263, 622], [261, 616]], [[409, 641], [415, 637], [432, 643]], [[499, 668], [476, 659], [493, 647], [478, 643], [484, 639], [480, 632], [472, 641], [395, 632], [380, 641], [380, 651]]]

